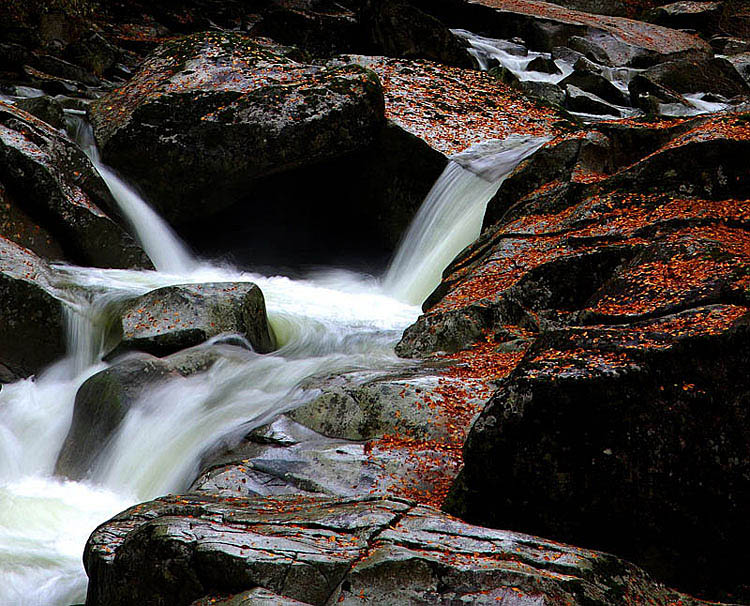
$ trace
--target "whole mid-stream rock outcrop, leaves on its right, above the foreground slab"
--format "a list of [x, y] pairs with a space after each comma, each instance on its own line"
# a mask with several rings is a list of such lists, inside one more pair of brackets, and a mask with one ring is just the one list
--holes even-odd
[[[503, 360], [494, 360], [496, 372]], [[460, 359], [310, 379], [309, 402], [210, 455], [191, 491], [225, 496], [398, 496], [440, 505], [491, 393]]]

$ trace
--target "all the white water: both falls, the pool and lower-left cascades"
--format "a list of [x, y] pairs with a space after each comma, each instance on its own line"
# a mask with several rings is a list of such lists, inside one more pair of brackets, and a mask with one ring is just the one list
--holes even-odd
[[[504, 175], [541, 143], [505, 142], [494, 149], [489, 163], [491, 153], [456, 158], [420, 211], [427, 218], [418, 218], [405, 238], [386, 281], [389, 288], [420, 303], [453, 255], [478, 235], [484, 206]], [[89, 153], [97, 159], [93, 147]], [[53, 267], [54, 286], [70, 304], [69, 353], [40, 376], [0, 391], [3, 605], [82, 601], [86, 576], [81, 554], [95, 525], [137, 501], [186, 489], [208, 448], [239, 439], [313, 397], [314, 392], [300, 387], [304, 379], [409, 364], [395, 357], [393, 344], [416, 319], [418, 307], [392, 297], [373, 279], [349, 272], [291, 280], [198, 263], [160, 219], [156, 226], [151, 223], [155, 215], [133, 190], [118, 189], [122, 182], [98, 161], [97, 169], [158, 271]], [[464, 215], [471, 218], [459, 228]], [[457, 230], [458, 237], [453, 235]], [[429, 273], [429, 281], [423, 273]], [[112, 306], [162, 286], [209, 281], [258, 284], [279, 349], [259, 355], [220, 340], [204, 344], [218, 361], [199, 375], [146, 390], [115, 435], [101, 445], [86, 481], [54, 477], [76, 392], [107, 367], [101, 358]]]

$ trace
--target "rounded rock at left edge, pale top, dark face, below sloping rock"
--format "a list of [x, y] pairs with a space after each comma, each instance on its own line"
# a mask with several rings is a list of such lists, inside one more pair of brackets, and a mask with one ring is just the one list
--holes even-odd
[[65, 353], [64, 305], [47, 264], [0, 236], [0, 368], [3, 380], [33, 375]]

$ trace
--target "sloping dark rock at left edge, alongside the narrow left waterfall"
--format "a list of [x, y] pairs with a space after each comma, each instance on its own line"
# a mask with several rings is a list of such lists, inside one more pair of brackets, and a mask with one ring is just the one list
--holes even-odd
[[[80, 148], [49, 124], [2, 103], [0, 182], [11, 203], [51, 234], [65, 259], [98, 267], [150, 267], [130, 235], [101, 210], [114, 209], [115, 203]], [[6, 235], [16, 239], [14, 233]]]

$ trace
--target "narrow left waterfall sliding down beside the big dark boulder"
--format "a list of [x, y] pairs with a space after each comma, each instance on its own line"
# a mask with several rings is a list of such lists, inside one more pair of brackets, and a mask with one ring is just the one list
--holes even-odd
[[158, 271], [173, 274], [188, 274], [193, 271], [196, 261], [185, 243], [146, 203], [135, 188], [128, 185], [115, 171], [101, 162], [91, 126], [77, 117], [71, 120], [74, 123], [78, 144], [107, 184], [118, 208], [135, 230], [136, 239], [146, 251], [154, 267]]

